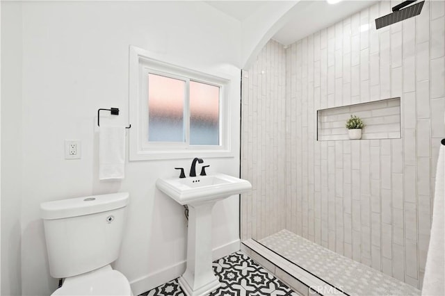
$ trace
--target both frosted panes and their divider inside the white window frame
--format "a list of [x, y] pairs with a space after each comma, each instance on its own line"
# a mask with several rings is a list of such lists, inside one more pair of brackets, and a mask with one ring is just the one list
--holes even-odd
[[220, 86], [150, 72], [146, 78], [149, 142], [219, 145]]

